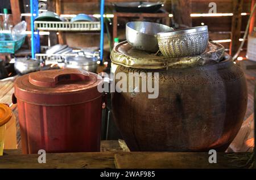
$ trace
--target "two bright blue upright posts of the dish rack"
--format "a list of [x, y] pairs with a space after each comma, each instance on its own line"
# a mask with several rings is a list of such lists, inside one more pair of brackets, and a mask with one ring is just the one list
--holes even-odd
[[[104, 51], [104, 2], [101, 0], [100, 14], [101, 14], [101, 34], [100, 34], [100, 60], [103, 62]], [[39, 31], [35, 31], [34, 20], [38, 16], [38, 0], [30, 0], [30, 13], [31, 13], [31, 54], [35, 58], [35, 54], [40, 52], [40, 37]], [[34, 32], [34, 33], [33, 33]]]

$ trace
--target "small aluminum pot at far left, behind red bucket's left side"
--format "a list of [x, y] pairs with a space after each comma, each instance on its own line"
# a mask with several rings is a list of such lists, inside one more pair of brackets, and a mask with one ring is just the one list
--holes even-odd
[[14, 69], [17, 74], [23, 75], [40, 70], [40, 61], [32, 58], [16, 58]]

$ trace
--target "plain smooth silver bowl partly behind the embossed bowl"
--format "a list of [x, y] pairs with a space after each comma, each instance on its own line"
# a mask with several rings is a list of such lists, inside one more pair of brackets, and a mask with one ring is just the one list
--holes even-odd
[[159, 50], [157, 33], [172, 31], [167, 25], [150, 22], [129, 22], [126, 24], [126, 40], [136, 49], [155, 53]]

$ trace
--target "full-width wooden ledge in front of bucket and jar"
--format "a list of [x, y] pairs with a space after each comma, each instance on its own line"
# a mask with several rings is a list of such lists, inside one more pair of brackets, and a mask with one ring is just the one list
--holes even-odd
[[[81, 152], [47, 153], [46, 163], [39, 155], [0, 156], [1, 168], [250, 168], [251, 153], [217, 153], [217, 163], [210, 164], [208, 153], [196, 152]], [[247, 163], [248, 162], [248, 163]], [[246, 164], [247, 163], [247, 164]]]

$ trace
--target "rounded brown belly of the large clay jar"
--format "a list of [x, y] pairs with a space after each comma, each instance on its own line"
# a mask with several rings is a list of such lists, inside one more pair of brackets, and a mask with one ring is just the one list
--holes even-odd
[[[204, 72], [188, 82], [183, 82], [186, 73], [160, 72], [155, 99], [143, 92], [113, 93], [114, 120], [130, 150], [225, 151], [247, 105], [245, 77], [236, 72], [240, 68], [225, 71], [214, 76], [215, 82], [205, 80], [211, 74]], [[230, 74], [234, 76], [225, 79]]]

